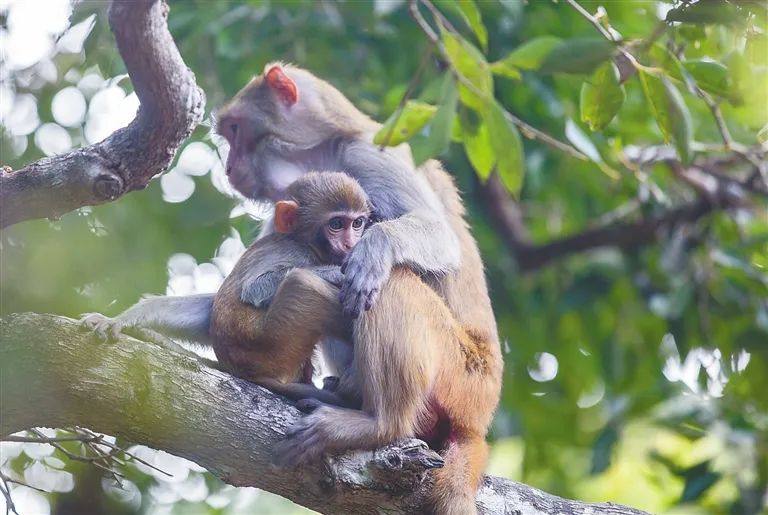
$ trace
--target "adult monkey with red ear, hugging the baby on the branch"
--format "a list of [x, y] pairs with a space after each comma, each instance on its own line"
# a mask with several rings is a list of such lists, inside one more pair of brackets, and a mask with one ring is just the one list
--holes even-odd
[[419, 436], [445, 457], [434, 511], [474, 513], [503, 364], [482, 261], [450, 176], [437, 161], [414, 170], [407, 146], [378, 149], [371, 139], [379, 124], [294, 66], [267, 65], [218, 118], [230, 144], [227, 175], [244, 195], [280, 200], [302, 174], [340, 170], [358, 180], [382, 220], [342, 265], [341, 302], [359, 318], [356, 374], [341, 388], [360, 389], [363, 411], [319, 408], [278, 458], [297, 463]]

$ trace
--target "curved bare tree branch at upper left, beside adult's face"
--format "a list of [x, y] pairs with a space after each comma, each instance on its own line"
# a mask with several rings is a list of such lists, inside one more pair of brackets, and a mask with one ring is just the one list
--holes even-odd
[[114, 200], [168, 167], [200, 122], [205, 97], [167, 16], [164, 0], [112, 3], [110, 27], [141, 102], [136, 118], [100, 143], [0, 172], [0, 228]]

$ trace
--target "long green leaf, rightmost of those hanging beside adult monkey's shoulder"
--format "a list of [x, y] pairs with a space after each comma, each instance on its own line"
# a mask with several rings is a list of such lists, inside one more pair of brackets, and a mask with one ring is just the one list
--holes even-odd
[[520, 131], [510, 120], [506, 110], [495, 100], [488, 101], [483, 119], [488, 125], [491, 148], [496, 156], [496, 172], [507, 190], [517, 197], [523, 187], [525, 174]]

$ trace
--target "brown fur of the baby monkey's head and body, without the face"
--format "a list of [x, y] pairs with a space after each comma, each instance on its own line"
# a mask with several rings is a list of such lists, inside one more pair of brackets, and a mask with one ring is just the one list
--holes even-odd
[[[307, 393], [326, 402], [348, 405], [332, 393], [313, 392], [291, 383], [308, 382], [307, 366], [323, 336], [351, 340], [350, 322], [338, 302], [339, 289], [310, 270], [294, 268], [280, 283], [269, 305], [259, 309], [242, 300], [243, 285], [265, 263], [282, 267], [329, 264], [315, 236], [329, 213], [366, 215], [360, 186], [341, 173], [309, 174], [295, 182], [289, 197], [297, 203], [291, 234], [256, 241], [224, 280], [214, 301], [210, 334], [218, 360], [237, 375], [291, 398]], [[310, 374], [311, 375], [311, 374]]]

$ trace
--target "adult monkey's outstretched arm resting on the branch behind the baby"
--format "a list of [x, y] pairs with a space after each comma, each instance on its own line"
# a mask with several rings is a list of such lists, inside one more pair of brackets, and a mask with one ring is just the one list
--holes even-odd
[[102, 339], [115, 338], [126, 327], [145, 327], [171, 338], [210, 346], [208, 327], [214, 296], [213, 293], [204, 293], [148, 297], [114, 318], [86, 313], [80, 321]]

